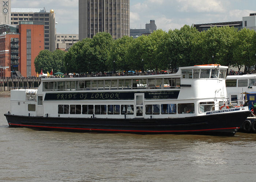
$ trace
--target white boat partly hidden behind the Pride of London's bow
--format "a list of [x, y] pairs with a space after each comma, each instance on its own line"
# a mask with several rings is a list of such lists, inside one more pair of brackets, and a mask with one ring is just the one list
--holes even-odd
[[[226, 77], [227, 98], [231, 103], [248, 100], [249, 110], [256, 107], [256, 74], [230, 75]], [[244, 120], [239, 131], [256, 133], [256, 109]]]

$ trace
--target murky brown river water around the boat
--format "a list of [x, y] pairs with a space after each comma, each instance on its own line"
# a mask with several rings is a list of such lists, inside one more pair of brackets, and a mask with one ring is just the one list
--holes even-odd
[[136, 135], [9, 128], [0, 95], [0, 181], [256, 181], [256, 134]]

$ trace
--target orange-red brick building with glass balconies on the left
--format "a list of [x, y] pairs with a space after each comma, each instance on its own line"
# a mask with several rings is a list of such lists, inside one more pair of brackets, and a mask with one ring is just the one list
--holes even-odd
[[0, 25], [0, 76], [36, 76], [34, 60], [44, 50], [44, 22]]

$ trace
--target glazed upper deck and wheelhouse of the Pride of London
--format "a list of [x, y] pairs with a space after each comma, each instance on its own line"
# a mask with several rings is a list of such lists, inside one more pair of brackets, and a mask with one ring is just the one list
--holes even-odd
[[[198, 80], [222, 80], [226, 77], [225, 66], [180, 67], [177, 73], [164, 75], [111, 76], [87, 78], [42, 79], [38, 90], [47, 91], [91, 91], [91, 90], [133, 90], [133, 89], [179, 89], [192, 87]], [[208, 82], [211, 84], [210, 82]]]

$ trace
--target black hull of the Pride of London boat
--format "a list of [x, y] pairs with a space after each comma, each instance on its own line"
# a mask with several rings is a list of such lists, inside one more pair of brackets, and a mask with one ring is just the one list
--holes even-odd
[[50, 118], [4, 114], [10, 127], [80, 132], [233, 136], [250, 111], [168, 119]]

